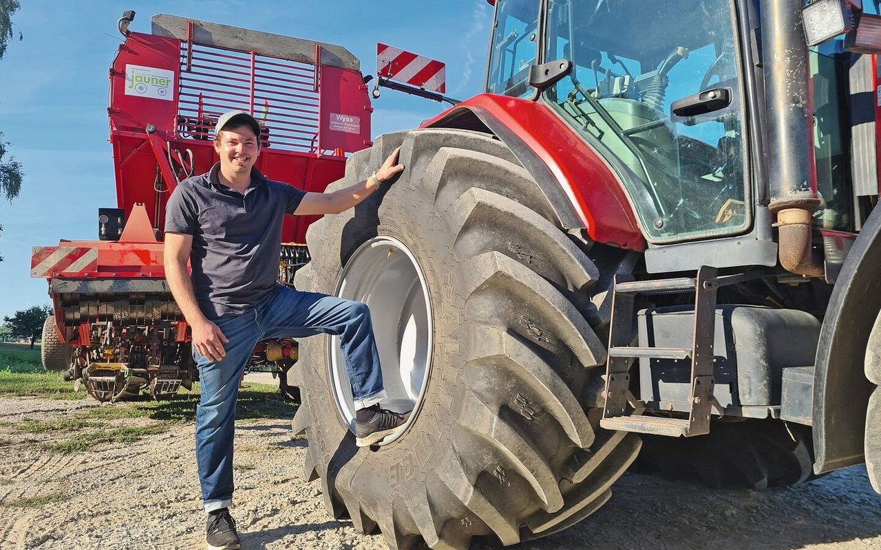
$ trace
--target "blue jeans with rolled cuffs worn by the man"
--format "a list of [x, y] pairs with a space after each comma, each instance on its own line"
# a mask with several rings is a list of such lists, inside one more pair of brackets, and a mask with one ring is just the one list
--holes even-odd
[[233, 502], [235, 400], [245, 363], [258, 341], [335, 334], [341, 341], [355, 407], [369, 407], [386, 397], [365, 304], [279, 285], [253, 310], [215, 323], [229, 341], [224, 346], [226, 356], [212, 362], [193, 349], [202, 391], [196, 408], [196, 461], [206, 512]]

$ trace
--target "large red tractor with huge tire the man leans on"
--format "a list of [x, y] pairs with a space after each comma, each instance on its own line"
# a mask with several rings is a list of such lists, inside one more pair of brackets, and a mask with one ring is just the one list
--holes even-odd
[[407, 168], [307, 231], [297, 288], [370, 306], [383, 406], [414, 411], [358, 449], [338, 342], [301, 343], [329, 513], [395, 549], [512, 545], [640, 448], [711, 486], [865, 462], [877, 488], [877, 3], [491, 4], [485, 93], [353, 154], [331, 187]]

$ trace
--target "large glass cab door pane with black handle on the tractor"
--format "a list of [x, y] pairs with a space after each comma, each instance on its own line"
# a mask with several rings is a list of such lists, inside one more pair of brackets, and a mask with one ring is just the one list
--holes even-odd
[[[648, 238], [744, 231], [751, 210], [729, 0], [548, 6], [545, 61], [574, 67], [546, 98], [616, 169]], [[721, 101], [692, 97], [712, 90]]]

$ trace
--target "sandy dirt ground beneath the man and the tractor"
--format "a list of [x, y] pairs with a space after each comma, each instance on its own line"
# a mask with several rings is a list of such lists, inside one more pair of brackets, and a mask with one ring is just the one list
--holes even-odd
[[[204, 547], [192, 422], [134, 443], [68, 454], [46, 450], [59, 436], [52, 430], [16, 428], [19, 422], [60, 422], [76, 409], [97, 406], [91, 400], [0, 399], [0, 548]], [[363, 536], [349, 522], [329, 518], [319, 483], [302, 477], [305, 449], [305, 440], [292, 439], [287, 419], [237, 423], [233, 517], [243, 547], [386, 548], [381, 535]], [[515, 547], [881, 549], [881, 496], [862, 467], [758, 493], [626, 474], [594, 516]]]

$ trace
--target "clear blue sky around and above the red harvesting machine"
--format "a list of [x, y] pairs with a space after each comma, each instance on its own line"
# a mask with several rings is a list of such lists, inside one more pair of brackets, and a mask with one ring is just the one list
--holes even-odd
[[[122, 11], [137, 11], [137, 32], [169, 13], [340, 44], [365, 74], [376, 71], [381, 41], [446, 62], [447, 94], [458, 99], [482, 90], [492, 19], [485, 0], [21, 4], [12, 22], [25, 40], [11, 41], [0, 61], [0, 131], [26, 172], [19, 197], [0, 202], [0, 319], [49, 302], [45, 280], [28, 277], [31, 246], [96, 238], [98, 208], [116, 205], [107, 69], [122, 41]], [[374, 135], [413, 128], [444, 108], [390, 90], [373, 105]]]

